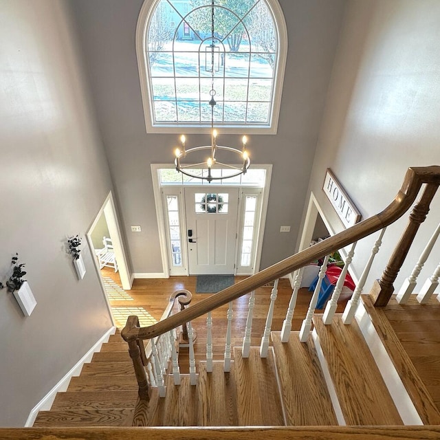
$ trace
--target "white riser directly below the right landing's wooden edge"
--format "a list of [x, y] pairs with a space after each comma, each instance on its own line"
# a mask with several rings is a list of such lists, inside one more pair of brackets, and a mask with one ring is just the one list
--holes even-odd
[[423, 421], [421, 421], [404, 384], [401, 382], [399, 373], [397, 373], [362, 303], [359, 303], [355, 318], [404, 425], [423, 425]]

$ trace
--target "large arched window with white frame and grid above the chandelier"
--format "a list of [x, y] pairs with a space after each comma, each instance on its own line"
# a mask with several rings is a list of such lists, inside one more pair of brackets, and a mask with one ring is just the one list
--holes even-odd
[[[210, 128], [211, 0], [145, 0], [137, 60], [149, 133]], [[277, 0], [214, 1], [215, 125], [276, 133], [287, 56]]]

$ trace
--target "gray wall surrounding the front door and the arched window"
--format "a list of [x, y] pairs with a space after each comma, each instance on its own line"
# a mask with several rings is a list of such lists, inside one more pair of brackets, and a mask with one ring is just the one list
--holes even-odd
[[[273, 164], [261, 266], [294, 252], [338, 43], [344, 0], [281, 0], [289, 52], [277, 135], [252, 135], [255, 164]], [[147, 134], [135, 29], [142, 0], [74, 0], [78, 35], [122, 212], [133, 272], [162, 272], [151, 163], [171, 163], [177, 135]], [[206, 135], [191, 135], [194, 145]], [[239, 141], [222, 135], [225, 144]], [[130, 225], [141, 225], [133, 234]], [[281, 234], [280, 225], [291, 225]]]

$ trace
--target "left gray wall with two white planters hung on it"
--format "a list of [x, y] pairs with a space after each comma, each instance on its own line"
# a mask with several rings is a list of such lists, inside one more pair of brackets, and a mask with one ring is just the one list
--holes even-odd
[[0, 281], [19, 252], [37, 301], [25, 318], [0, 290], [0, 426], [30, 410], [111, 327], [84, 234], [111, 180], [64, 1], [0, 2]]

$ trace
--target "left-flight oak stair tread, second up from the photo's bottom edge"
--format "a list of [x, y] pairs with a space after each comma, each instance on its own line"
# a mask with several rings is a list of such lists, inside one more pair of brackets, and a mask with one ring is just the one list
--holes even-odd
[[137, 391], [66, 391], [56, 393], [51, 410], [134, 408]]

